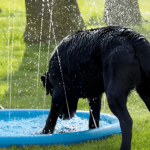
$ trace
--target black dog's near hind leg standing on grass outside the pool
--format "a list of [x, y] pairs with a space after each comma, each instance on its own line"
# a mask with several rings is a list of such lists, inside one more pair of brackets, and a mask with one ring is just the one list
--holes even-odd
[[122, 131], [122, 144], [120, 150], [131, 149], [132, 118], [126, 107], [127, 95], [123, 86], [115, 80], [106, 87], [107, 101], [112, 113], [119, 119]]

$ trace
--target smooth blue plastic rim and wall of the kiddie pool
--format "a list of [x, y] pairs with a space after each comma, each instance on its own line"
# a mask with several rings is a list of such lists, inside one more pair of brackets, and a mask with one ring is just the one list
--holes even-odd
[[[49, 109], [3, 109], [0, 110], [0, 116], [8, 115], [42, 115], [43, 113], [48, 114]], [[78, 115], [88, 115], [89, 111], [77, 111]], [[106, 115], [108, 120], [113, 120], [114, 116], [109, 114], [101, 113], [101, 115]], [[41, 129], [42, 130], [42, 129]], [[48, 135], [30, 135], [30, 136], [0, 136], [0, 148], [1, 147], [11, 147], [15, 146], [29, 146], [29, 145], [71, 145], [87, 142], [88, 140], [98, 140], [106, 138], [112, 134], [121, 134], [119, 122], [112, 125], [96, 128], [80, 132], [71, 133], [61, 133], [61, 134], [48, 134]]]

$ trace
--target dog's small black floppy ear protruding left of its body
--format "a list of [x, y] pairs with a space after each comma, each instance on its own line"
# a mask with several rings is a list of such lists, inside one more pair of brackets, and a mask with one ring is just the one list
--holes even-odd
[[49, 93], [52, 95], [53, 85], [49, 81], [49, 73], [48, 72], [45, 72], [45, 74], [43, 74], [41, 76], [41, 81], [43, 82], [43, 86], [46, 89], [46, 95], [48, 95]]

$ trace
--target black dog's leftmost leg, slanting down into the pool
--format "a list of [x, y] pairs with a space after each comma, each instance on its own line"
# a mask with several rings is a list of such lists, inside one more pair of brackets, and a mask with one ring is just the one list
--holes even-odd
[[53, 133], [57, 118], [62, 112], [64, 106], [65, 106], [65, 96], [64, 96], [64, 90], [62, 86], [59, 86], [54, 89], [53, 95], [52, 95], [52, 103], [51, 103], [51, 110], [48, 115], [46, 125], [44, 129], [42, 130], [41, 134], [48, 134]]

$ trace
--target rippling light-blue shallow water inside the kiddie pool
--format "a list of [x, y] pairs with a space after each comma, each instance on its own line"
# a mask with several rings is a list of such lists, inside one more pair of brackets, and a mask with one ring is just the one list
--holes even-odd
[[[30, 136], [39, 133], [46, 122], [47, 115], [39, 115], [35, 117], [11, 117], [1, 118], [0, 120], [0, 136]], [[109, 126], [115, 122], [109, 122], [107, 119], [100, 119], [100, 128]], [[71, 120], [58, 119], [54, 134], [66, 132], [78, 132], [88, 130], [87, 118], [73, 117]]]

